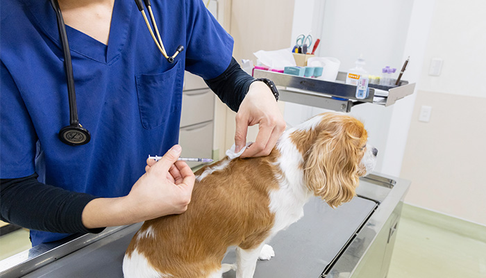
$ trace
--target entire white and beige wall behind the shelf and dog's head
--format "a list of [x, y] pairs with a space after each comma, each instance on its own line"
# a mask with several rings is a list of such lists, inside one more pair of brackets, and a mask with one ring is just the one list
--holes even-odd
[[[361, 12], [368, 19], [358, 19]], [[357, 106], [351, 114], [364, 121], [380, 149], [376, 170], [412, 181], [405, 202], [480, 224], [486, 224], [485, 14], [483, 0], [326, 0], [319, 52], [339, 58], [341, 70], [362, 53], [371, 72], [385, 60], [396, 64], [410, 56], [403, 79], [417, 82], [414, 95], [389, 108]], [[294, 18], [300, 33], [315, 25], [303, 19]], [[393, 27], [381, 28], [376, 39], [346, 33], [352, 26], [375, 30], [368, 24], [380, 22]], [[403, 36], [390, 33], [395, 29]], [[361, 44], [353, 44], [360, 38]], [[394, 44], [392, 51], [383, 48], [387, 42]], [[444, 60], [440, 76], [428, 75], [432, 58]], [[419, 122], [423, 105], [432, 106], [430, 122]], [[319, 112], [287, 104], [285, 119], [296, 124]]]

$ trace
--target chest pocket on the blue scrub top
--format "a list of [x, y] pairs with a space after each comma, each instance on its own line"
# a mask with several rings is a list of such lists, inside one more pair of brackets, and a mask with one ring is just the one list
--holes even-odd
[[144, 129], [155, 129], [181, 113], [181, 63], [160, 74], [137, 74], [138, 107]]

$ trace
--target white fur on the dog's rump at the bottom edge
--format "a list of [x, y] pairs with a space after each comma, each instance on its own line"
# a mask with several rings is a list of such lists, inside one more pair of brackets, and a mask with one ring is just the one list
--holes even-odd
[[130, 258], [123, 259], [123, 274], [125, 278], [172, 278], [170, 274], [160, 273], [153, 268], [143, 254], [135, 248]]

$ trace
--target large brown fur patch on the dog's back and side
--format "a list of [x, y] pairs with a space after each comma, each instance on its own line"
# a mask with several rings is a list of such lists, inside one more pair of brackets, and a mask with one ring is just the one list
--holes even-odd
[[[265, 157], [235, 158], [224, 170], [196, 181], [187, 211], [146, 221], [126, 254], [137, 249], [153, 268], [174, 278], [207, 277], [221, 267], [227, 247], [257, 247], [274, 224], [269, 191], [278, 188], [280, 173], [272, 163], [279, 155], [274, 149]], [[154, 237], [137, 238], [149, 227]]]

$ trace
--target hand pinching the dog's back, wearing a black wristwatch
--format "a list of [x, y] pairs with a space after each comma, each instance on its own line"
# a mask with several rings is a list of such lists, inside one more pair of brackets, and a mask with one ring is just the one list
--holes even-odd
[[261, 81], [251, 83], [240, 109], [236, 114], [235, 152], [246, 145], [248, 126], [258, 124], [258, 135], [241, 158], [267, 156], [285, 131], [285, 120], [278, 109], [274, 94]]

